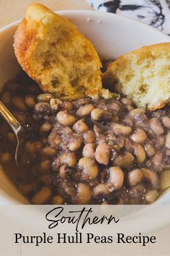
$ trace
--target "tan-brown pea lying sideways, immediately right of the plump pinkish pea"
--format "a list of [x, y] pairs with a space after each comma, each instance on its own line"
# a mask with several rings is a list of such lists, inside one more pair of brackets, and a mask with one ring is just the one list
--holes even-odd
[[113, 165], [126, 168], [133, 164], [133, 161], [134, 156], [130, 152], [124, 151], [122, 154], [117, 155], [117, 157], [113, 160]]

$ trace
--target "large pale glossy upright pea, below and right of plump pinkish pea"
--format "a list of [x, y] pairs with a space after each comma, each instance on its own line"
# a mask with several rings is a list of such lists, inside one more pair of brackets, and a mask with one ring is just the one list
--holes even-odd
[[109, 185], [113, 187], [113, 190], [121, 189], [124, 182], [124, 173], [120, 167], [109, 168]]

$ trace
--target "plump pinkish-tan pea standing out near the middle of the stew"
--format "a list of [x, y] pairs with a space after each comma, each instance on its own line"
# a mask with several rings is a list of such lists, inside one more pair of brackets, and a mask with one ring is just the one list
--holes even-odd
[[98, 163], [104, 164], [107, 166], [109, 163], [110, 147], [106, 143], [99, 144], [95, 151], [95, 158]]

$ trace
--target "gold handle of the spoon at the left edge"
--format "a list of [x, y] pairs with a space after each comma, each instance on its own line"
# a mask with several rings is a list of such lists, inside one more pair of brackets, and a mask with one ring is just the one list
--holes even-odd
[[10, 127], [12, 127], [14, 132], [17, 133], [17, 131], [21, 128], [21, 125], [1, 101], [0, 101], [0, 114], [8, 122]]

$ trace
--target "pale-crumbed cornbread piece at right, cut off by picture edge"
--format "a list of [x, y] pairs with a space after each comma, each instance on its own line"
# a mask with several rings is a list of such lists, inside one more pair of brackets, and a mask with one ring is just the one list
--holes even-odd
[[170, 43], [130, 51], [109, 64], [103, 82], [131, 98], [138, 107], [155, 111], [170, 100]]

